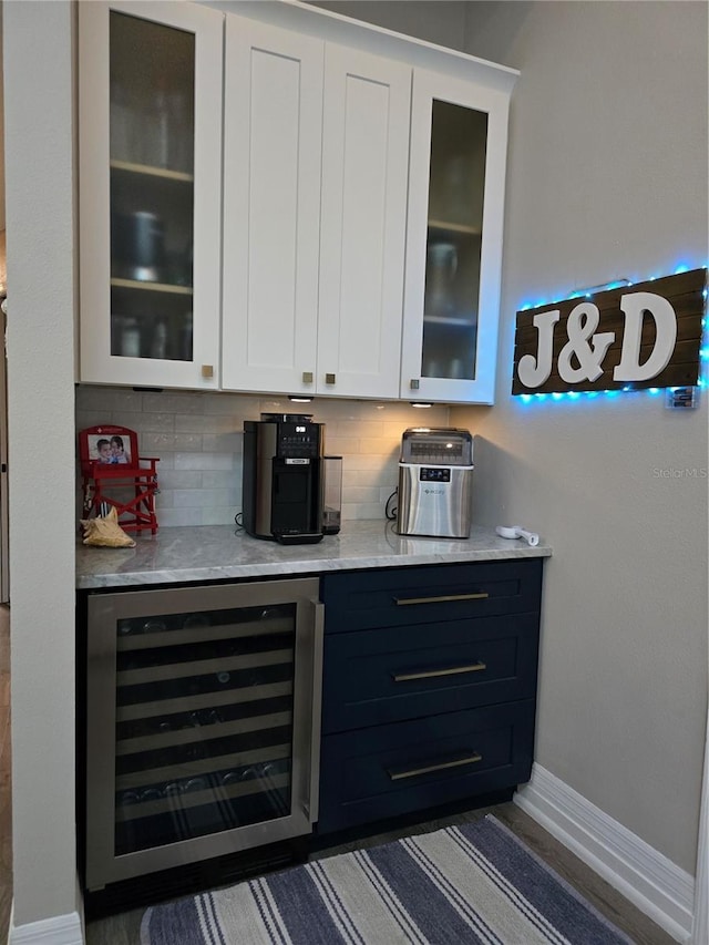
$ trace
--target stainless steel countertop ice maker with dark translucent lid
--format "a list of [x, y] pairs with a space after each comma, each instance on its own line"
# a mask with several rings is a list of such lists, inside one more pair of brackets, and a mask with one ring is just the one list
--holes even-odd
[[399, 534], [467, 538], [473, 469], [473, 438], [467, 430], [405, 430], [399, 460]]

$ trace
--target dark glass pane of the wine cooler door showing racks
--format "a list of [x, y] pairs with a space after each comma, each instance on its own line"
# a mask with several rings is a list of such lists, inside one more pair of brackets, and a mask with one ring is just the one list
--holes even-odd
[[286, 816], [296, 605], [117, 622], [115, 853]]

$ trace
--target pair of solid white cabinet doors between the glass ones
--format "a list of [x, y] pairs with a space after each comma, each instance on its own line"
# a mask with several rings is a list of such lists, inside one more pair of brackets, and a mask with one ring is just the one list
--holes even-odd
[[223, 387], [397, 398], [411, 69], [226, 31]]

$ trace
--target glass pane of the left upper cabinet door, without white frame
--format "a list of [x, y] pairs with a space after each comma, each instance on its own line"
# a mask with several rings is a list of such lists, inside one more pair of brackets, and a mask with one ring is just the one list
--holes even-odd
[[111, 353], [193, 357], [193, 33], [111, 11]]

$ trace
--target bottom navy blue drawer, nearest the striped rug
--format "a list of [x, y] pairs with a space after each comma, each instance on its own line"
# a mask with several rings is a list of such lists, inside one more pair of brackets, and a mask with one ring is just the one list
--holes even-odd
[[318, 832], [527, 781], [534, 699], [322, 739]]

